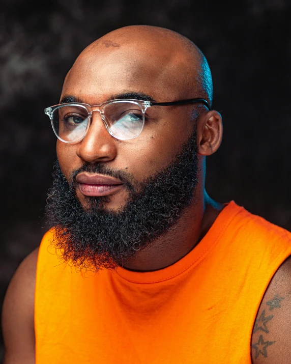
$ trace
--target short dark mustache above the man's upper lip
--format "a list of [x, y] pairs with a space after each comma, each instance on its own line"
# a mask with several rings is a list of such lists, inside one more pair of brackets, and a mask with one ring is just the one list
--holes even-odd
[[125, 187], [127, 187], [131, 192], [135, 191], [135, 186], [137, 185], [133, 175], [126, 170], [114, 169], [104, 163], [89, 162], [85, 162], [81, 167], [71, 172], [70, 185], [73, 185], [73, 187], [76, 186], [76, 177], [81, 172], [98, 173], [104, 176], [120, 179], [124, 183]]

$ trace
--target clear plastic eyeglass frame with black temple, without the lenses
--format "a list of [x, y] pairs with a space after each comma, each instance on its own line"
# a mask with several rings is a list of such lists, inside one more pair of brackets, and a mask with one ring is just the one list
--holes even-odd
[[[107, 105], [110, 105], [112, 103], [132, 103], [133, 105], [137, 106], [140, 108], [141, 112], [142, 112], [142, 127], [140, 128], [140, 131], [134, 135], [133, 137], [126, 137], [126, 138], [121, 138], [117, 135], [114, 134], [114, 132], [112, 131], [109, 123], [108, 123], [108, 120], [106, 118], [106, 115], [104, 115], [104, 108], [107, 106]], [[145, 111], [147, 110], [148, 107], [151, 107], [151, 106], [171, 106], [171, 105], [184, 105], [184, 104], [190, 104], [190, 103], [202, 103], [204, 104], [209, 110], [211, 109], [210, 108], [210, 105], [208, 103], [208, 101], [206, 101], [205, 99], [200, 99], [200, 98], [196, 98], [196, 99], [189, 99], [189, 100], [179, 100], [179, 101], [171, 101], [171, 102], [152, 102], [152, 101], [144, 101], [144, 100], [135, 100], [135, 99], [117, 99], [117, 100], [109, 100], [109, 101], [105, 101], [105, 102], [102, 102], [100, 105], [89, 105], [89, 104], [85, 104], [85, 103], [78, 103], [78, 102], [69, 102], [69, 103], [61, 103], [61, 104], [57, 104], [57, 105], [53, 105], [53, 106], [50, 106], [50, 107], [47, 107], [45, 110], [44, 110], [44, 113], [46, 115], [48, 115], [48, 117], [50, 118], [50, 121], [51, 121], [51, 125], [52, 125], [52, 129], [55, 133], [55, 135], [57, 136], [57, 138], [60, 139], [60, 141], [64, 142], [64, 143], [78, 143], [80, 142], [86, 135], [86, 133], [88, 132], [89, 128], [90, 128], [90, 125], [91, 125], [91, 121], [92, 121], [92, 113], [93, 111], [98, 111], [101, 115], [101, 118], [102, 118], [102, 121], [105, 125], [105, 128], [106, 130], [108, 131], [108, 133], [119, 139], [119, 140], [128, 140], [128, 139], [133, 139], [135, 137], [137, 137], [143, 130], [143, 127], [144, 127], [144, 121], [145, 121]], [[64, 107], [64, 106], [78, 106], [78, 107], [81, 107], [81, 108], [84, 108], [87, 113], [88, 113], [88, 124], [86, 125], [86, 128], [82, 134], [82, 136], [77, 139], [77, 140], [74, 140], [74, 141], [65, 141], [64, 139], [62, 139], [58, 134], [57, 134], [57, 131], [55, 130], [54, 128], [54, 125], [53, 125], [53, 112], [56, 110], [56, 109], [59, 109], [61, 107]], [[106, 113], [105, 113], [106, 114]]]

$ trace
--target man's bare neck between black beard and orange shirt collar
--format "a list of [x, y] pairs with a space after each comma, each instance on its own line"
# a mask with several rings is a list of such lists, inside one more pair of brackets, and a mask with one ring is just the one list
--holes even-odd
[[134, 271], [154, 271], [178, 262], [206, 235], [223, 205], [213, 201], [205, 190], [196, 196], [177, 226], [157, 239], [150, 247], [140, 250], [123, 268]]

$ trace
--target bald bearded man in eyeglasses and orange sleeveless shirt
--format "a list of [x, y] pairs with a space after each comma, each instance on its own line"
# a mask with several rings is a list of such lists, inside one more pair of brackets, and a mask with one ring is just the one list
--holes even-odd
[[291, 362], [290, 234], [206, 193], [211, 103], [175, 32], [124, 27], [79, 55], [45, 110], [51, 230], [8, 288], [5, 364]]

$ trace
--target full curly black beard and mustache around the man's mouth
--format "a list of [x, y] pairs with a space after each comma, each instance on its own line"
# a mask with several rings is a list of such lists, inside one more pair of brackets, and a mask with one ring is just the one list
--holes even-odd
[[[76, 197], [80, 172], [101, 173], [120, 179], [129, 198], [118, 211], [106, 210], [106, 197]], [[194, 201], [198, 183], [196, 128], [182, 151], [167, 167], [142, 182], [125, 170], [106, 163], [84, 163], [73, 171], [70, 182], [54, 164], [53, 184], [46, 204], [52, 246], [63, 262], [76, 268], [98, 271], [123, 266], [137, 251], [154, 243], [177, 225], [183, 211]]]

